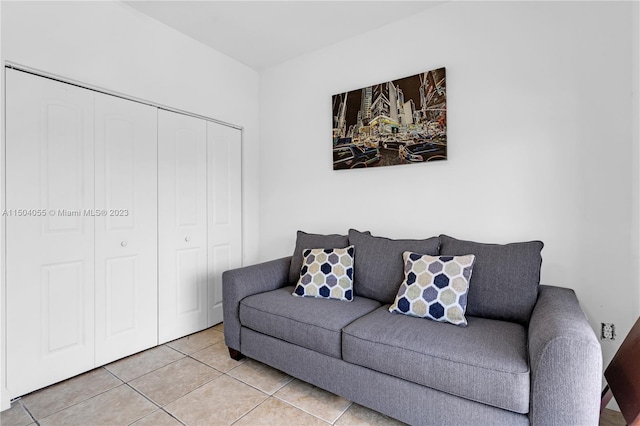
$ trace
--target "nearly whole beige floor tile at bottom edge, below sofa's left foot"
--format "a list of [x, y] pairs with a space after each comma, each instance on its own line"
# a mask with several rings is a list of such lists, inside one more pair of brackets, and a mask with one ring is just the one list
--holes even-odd
[[230, 425], [268, 396], [222, 375], [165, 407], [188, 425]]

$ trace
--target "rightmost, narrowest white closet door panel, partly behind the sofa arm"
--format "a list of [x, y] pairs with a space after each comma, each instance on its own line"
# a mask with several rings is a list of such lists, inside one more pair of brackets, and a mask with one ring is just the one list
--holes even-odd
[[222, 273], [242, 265], [242, 132], [207, 122], [208, 325], [222, 322]]

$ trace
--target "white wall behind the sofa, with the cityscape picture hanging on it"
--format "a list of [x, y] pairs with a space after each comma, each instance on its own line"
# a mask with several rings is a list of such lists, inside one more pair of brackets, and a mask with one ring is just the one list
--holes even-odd
[[[448, 2], [262, 72], [261, 258], [297, 229], [540, 239], [542, 283], [617, 325], [606, 365], [640, 312], [633, 7]], [[441, 66], [447, 161], [332, 170], [332, 95]]]

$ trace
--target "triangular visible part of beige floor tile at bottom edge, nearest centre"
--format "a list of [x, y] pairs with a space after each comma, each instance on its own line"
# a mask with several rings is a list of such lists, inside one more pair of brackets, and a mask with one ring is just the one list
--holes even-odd
[[327, 426], [328, 423], [293, 405], [271, 397], [233, 424], [233, 426], [272, 425]]

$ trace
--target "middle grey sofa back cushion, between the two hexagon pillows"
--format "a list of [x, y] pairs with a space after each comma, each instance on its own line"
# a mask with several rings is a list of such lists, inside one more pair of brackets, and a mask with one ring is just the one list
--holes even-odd
[[353, 291], [356, 296], [367, 297], [381, 303], [393, 303], [404, 279], [405, 251], [438, 254], [440, 240], [392, 240], [374, 237], [355, 229], [349, 230], [349, 243], [355, 246]]

